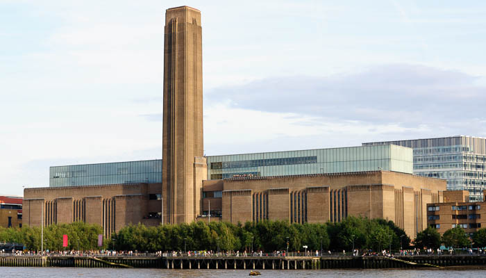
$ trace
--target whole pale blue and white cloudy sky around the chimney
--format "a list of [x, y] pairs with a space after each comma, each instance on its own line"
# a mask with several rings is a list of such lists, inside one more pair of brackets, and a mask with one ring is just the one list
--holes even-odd
[[201, 10], [205, 154], [486, 137], [486, 1], [0, 0], [0, 195], [162, 157], [165, 10]]

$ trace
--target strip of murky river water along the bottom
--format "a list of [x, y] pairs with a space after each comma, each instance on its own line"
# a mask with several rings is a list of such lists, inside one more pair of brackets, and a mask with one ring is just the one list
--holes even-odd
[[[260, 277], [431, 278], [486, 277], [486, 270], [259, 270]], [[1, 277], [249, 277], [250, 270], [165, 270], [119, 268], [0, 268]]]

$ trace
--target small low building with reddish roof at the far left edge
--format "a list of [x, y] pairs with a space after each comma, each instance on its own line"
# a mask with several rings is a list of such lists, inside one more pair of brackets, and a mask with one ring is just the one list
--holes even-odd
[[0, 227], [22, 227], [22, 197], [0, 196]]

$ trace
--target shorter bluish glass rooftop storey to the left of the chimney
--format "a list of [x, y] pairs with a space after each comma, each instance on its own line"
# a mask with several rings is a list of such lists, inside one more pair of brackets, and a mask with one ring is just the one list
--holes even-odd
[[161, 182], [161, 159], [49, 168], [49, 186], [51, 187]]

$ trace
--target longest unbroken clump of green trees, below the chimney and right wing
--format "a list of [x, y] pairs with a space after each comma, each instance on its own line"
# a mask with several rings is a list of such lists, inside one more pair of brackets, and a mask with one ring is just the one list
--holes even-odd
[[112, 236], [118, 250], [333, 250], [392, 249], [410, 243], [405, 231], [392, 221], [369, 220], [349, 216], [339, 223], [290, 224], [288, 221], [261, 221], [231, 224], [227, 222], [192, 222], [145, 227], [124, 227]]

